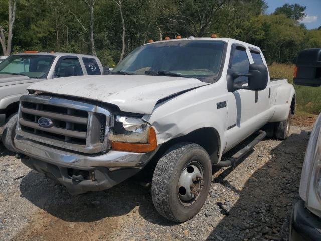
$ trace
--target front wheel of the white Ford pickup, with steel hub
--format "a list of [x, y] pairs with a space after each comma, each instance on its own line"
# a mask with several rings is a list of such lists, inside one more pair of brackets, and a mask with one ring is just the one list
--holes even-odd
[[159, 159], [151, 186], [152, 201], [165, 218], [184, 222], [202, 208], [211, 186], [208, 153], [194, 143], [172, 146]]

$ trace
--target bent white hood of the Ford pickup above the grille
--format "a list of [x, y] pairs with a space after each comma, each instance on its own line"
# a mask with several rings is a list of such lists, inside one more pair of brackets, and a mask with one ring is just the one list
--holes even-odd
[[117, 105], [121, 111], [149, 114], [158, 100], [207, 84], [181, 77], [95, 75], [42, 81], [28, 89], [97, 100]]

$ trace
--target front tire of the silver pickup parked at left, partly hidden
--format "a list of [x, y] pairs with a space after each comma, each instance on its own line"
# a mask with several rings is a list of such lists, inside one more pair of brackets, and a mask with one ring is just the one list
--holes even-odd
[[16, 135], [16, 125], [17, 125], [18, 114], [15, 113], [9, 116], [7, 123], [4, 126], [2, 133], [2, 142], [4, 146], [12, 152], [18, 153], [14, 146], [14, 137]]

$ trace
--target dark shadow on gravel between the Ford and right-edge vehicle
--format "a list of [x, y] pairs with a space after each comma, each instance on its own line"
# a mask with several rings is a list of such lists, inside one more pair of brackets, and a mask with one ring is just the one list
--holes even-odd
[[[298, 188], [308, 138], [309, 133], [301, 131], [271, 149], [269, 161], [252, 173], [242, 189], [225, 179], [233, 167], [214, 178], [213, 182], [238, 195], [238, 200], [232, 207], [226, 206], [229, 215], [223, 215], [207, 240], [288, 240], [290, 212], [299, 200]], [[224, 200], [211, 201], [224, 203]]]

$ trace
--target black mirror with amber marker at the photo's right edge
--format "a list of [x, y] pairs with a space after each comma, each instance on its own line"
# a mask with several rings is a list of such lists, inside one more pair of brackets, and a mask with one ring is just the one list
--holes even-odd
[[293, 83], [303, 86], [321, 86], [321, 48], [305, 49], [298, 53]]

